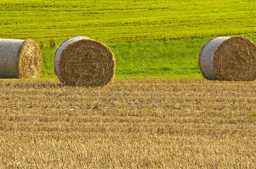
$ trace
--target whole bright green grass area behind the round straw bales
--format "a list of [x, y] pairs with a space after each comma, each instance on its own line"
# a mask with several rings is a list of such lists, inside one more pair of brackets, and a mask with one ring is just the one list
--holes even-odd
[[256, 42], [256, 1], [0, 0], [0, 6], [0, 37], [39, 43], [44, 76], [54, 74], [50, 41], [58, 46], [74, 35], [108, 45], [120, 77], [198, 77], [198, 54], [208, 39], [244, 35]]

